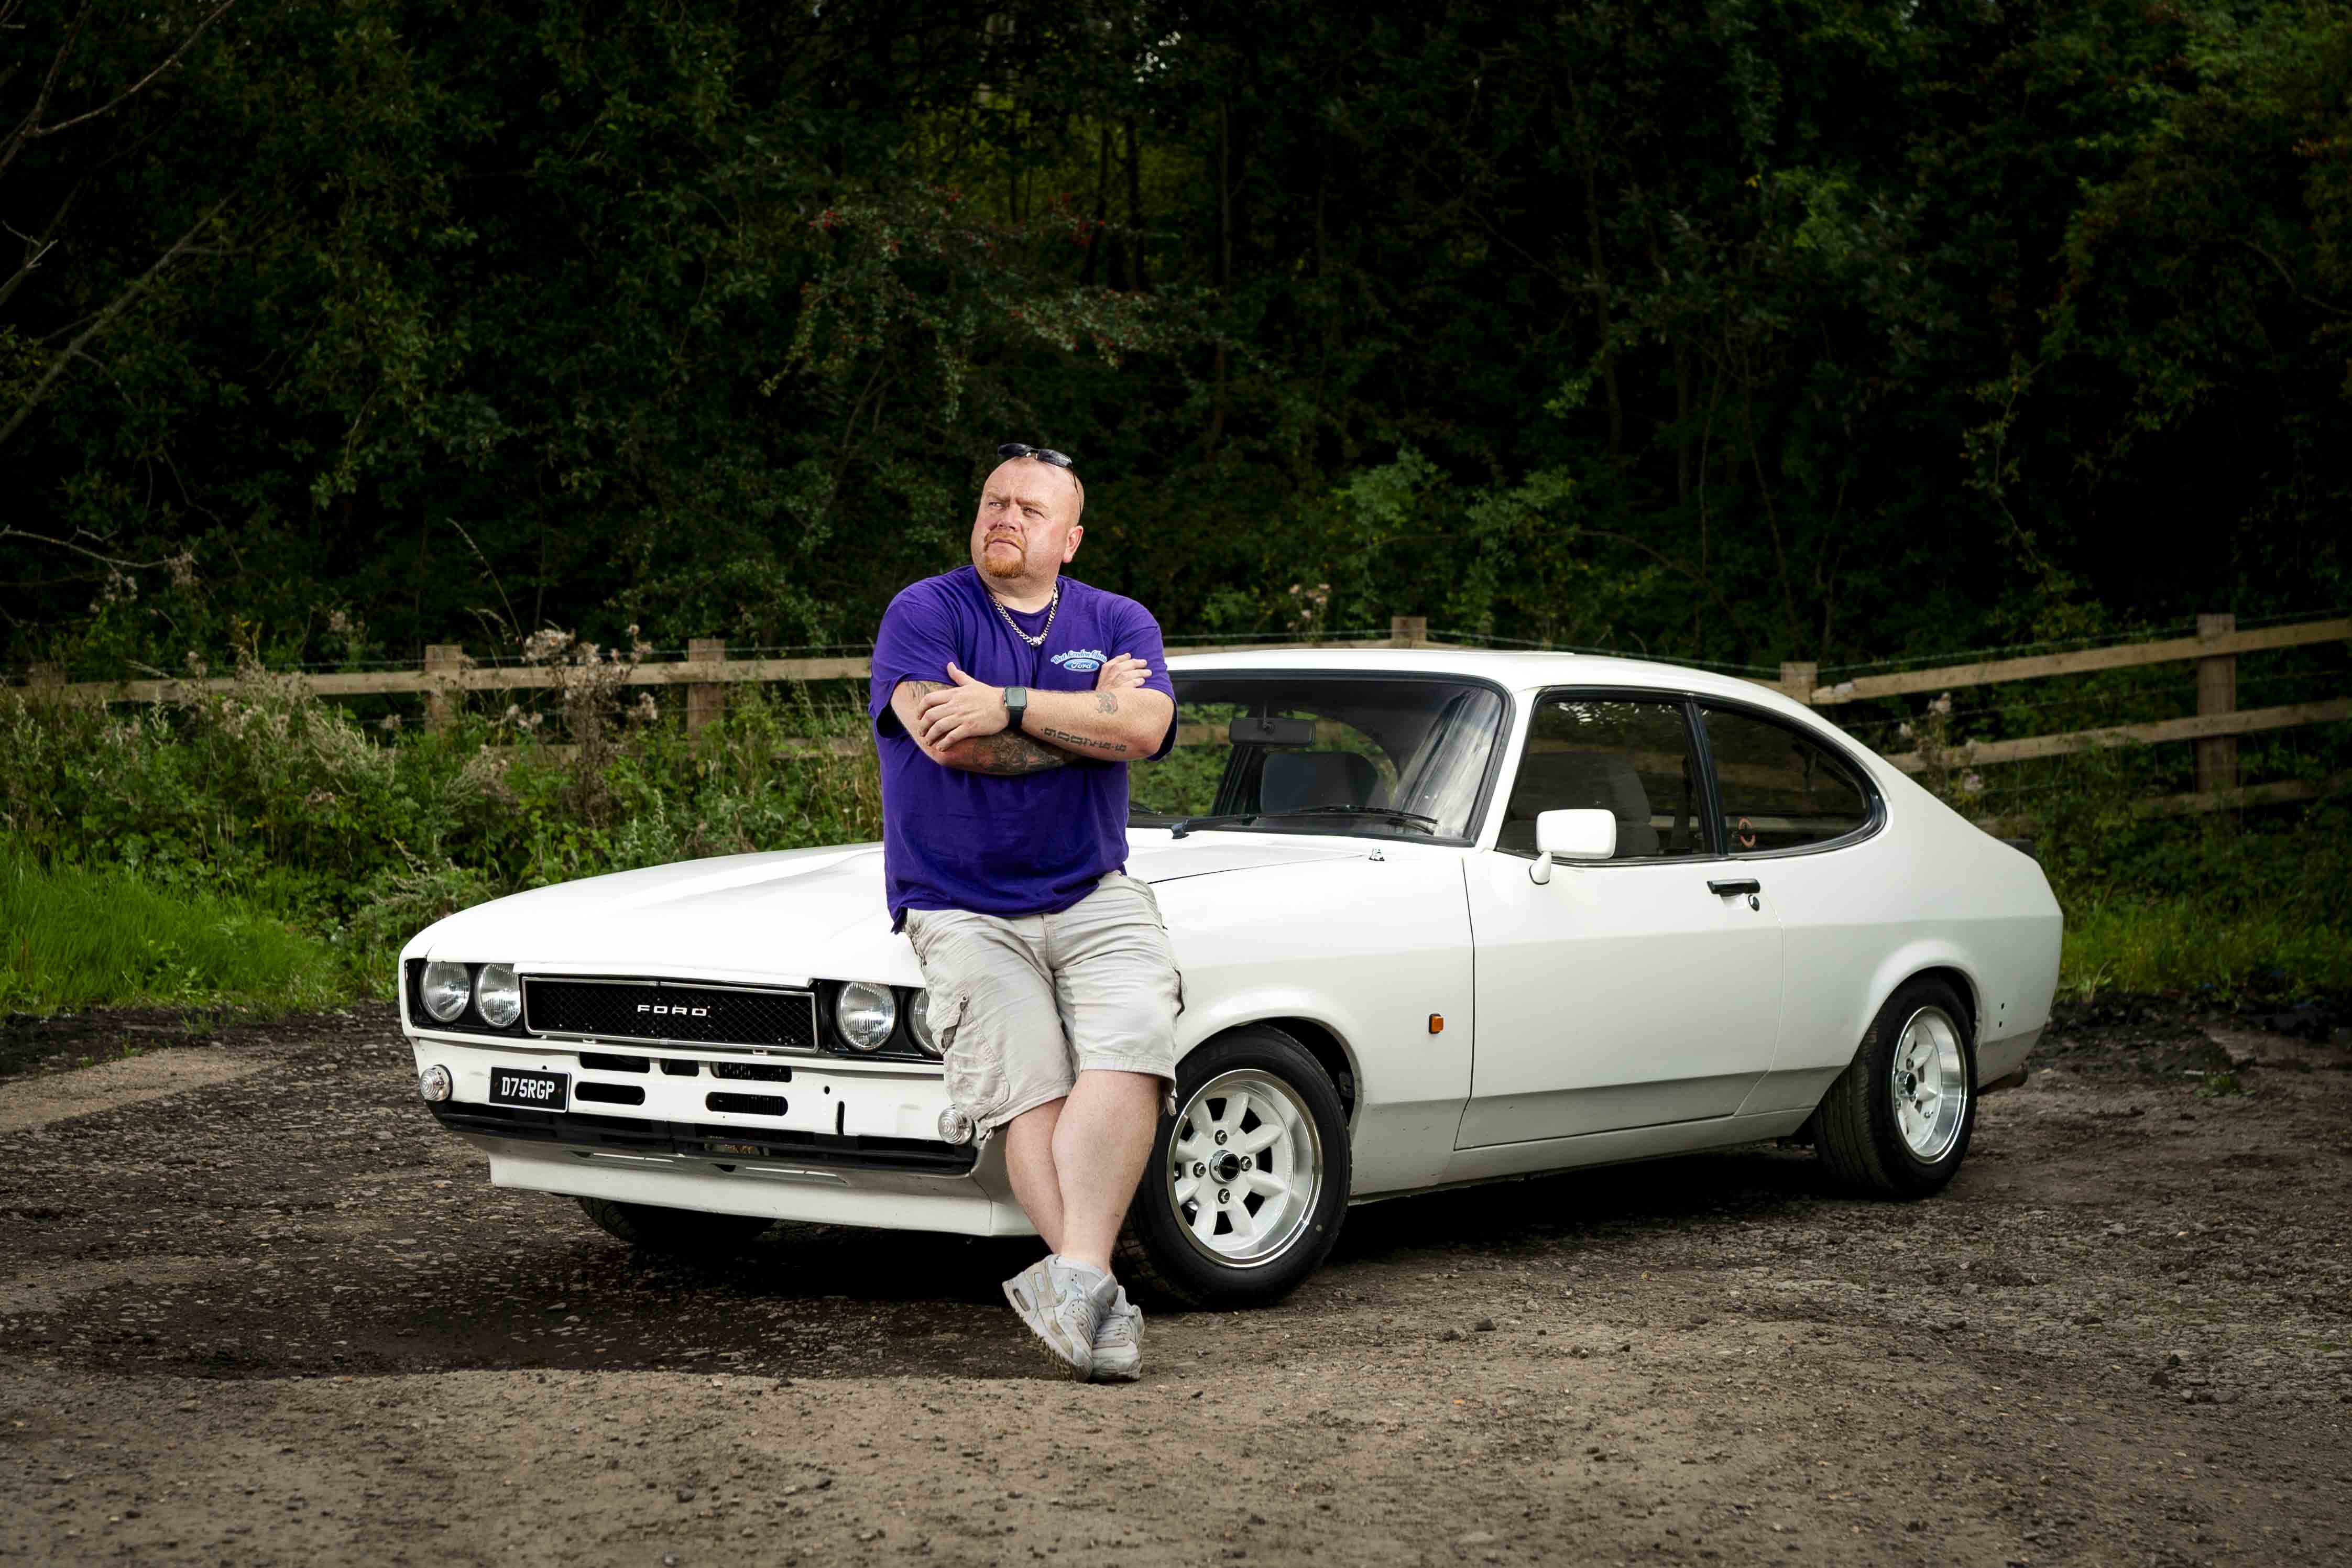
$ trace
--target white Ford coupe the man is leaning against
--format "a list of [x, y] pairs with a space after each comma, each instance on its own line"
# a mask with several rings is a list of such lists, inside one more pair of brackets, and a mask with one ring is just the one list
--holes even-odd
[[[2042, 867], [1788, 698], [1573, 654], [1171, 661], [1127, 870], [1183, 969], [1122, 1272], [1282, 1295], [1348, 1204], [1797, 1138], [1936, 1192], [2058, 983]], [[402, 952], [501, 1187], [710, 1251], [774, 1220], [1028, 1234], [941, 1086], [875, 844], [501, 898]]]

